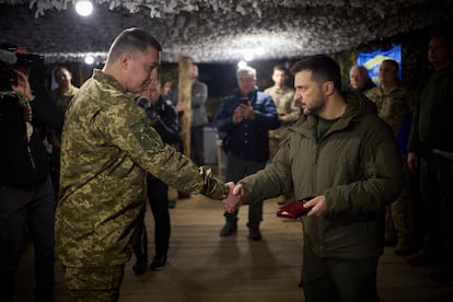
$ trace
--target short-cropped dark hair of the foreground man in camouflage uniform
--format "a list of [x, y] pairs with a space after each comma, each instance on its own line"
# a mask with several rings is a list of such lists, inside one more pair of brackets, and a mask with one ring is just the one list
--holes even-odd
[[126, 28], [112, 43], [107, 61], [115, 61], [125, 51], [143, 53], [149, 46], [162, 51], [161, 44], [148, 32], [138, 27]]

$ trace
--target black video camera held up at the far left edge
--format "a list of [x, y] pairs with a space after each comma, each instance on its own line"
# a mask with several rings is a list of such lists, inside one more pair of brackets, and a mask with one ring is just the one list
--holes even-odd
[[0, 91], [10, 91], [11, 85], [18, 84], [15, 68], [32, 67], [44, 63], [44, 57], [35, 54], [18, 54], [18, 46], [0, 44]]

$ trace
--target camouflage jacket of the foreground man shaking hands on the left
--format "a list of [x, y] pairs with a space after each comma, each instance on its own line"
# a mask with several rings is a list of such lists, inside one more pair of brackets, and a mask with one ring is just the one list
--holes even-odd
[[133, 95], [94, 70], [69, 105], [62, 132], [56, 255], [63, 266], [117, 266], [130, 258], [146, 172], [181, 191], [225, 197], [209, 167], [165, 144]]

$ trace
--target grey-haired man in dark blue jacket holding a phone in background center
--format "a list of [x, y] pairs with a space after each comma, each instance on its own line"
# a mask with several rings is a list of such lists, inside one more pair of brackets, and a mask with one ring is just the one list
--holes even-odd
[[[276, 105], [270, 95], [258, 91], [256, 70], [240, 68], [236, 72], [239, 89], [225, 97], [217, 116], [217, 127], [224, 132], [226, 152], [226, 179], [237, 182], [262, 170], [269, 159], [269, 129], [280, 126]], [[225, 212], [225, 225], [220, 236], [229, 236], [237, 229], [237, 210]], [[259, 223], [263, 220], [263, 200], [249, 206], [248, 237], [260, 240]]]

